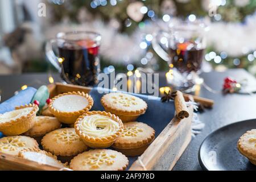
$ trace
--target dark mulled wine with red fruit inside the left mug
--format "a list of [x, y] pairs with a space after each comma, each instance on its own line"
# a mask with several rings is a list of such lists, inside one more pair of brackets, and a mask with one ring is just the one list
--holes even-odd
[[99, 46], [90, 45], [90, 41], [82, 40], [76, 45], [59, 46], [61, 63], [61, 78], [75, 85], [93, 86], [97, 84], [100, 72]]

